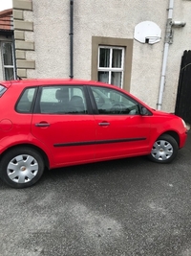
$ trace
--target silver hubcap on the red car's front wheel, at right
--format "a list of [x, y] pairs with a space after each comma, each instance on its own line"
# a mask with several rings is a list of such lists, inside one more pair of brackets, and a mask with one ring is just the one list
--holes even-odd
[[165, 140], [158, 140], [153, 145], [151, 154], [159, 161], [164, 161], [170, 158], [173, 154], [173, 146]]

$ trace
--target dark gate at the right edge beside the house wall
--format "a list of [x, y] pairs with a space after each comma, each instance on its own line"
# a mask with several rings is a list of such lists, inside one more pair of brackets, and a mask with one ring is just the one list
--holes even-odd
[[191, 124], [191, 51], [184, 51], [181, 58], [175, 114]]

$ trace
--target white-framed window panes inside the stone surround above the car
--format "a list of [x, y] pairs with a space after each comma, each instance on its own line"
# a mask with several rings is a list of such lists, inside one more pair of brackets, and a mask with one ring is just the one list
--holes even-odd
[[124, 48], [99, 46], [98, 81], [112, 83], [122, 88]]

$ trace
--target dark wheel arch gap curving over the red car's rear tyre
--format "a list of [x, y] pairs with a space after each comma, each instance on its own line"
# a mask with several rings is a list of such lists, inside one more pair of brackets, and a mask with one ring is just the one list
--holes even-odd
[[42, 156], [43, 160], [44, 160], [45, 167], [50, 169], [50, 161], [49, 161], [49, 157], [47, 156], [46, 152], [42, 151], [37, 146], [34, 146], [32, 144], [28, 144], [28, 143], [18, 144], [18, 145], [12, 146], [11, 148], [7, 149], [6, 151], [3, 151], [2, 154], [0, 154], [0, 160], [3, 158], [3, 156], [7, 152], [11, 151], [12, 149], [23, 148], [23, 147], [27, 147], [27, 148], [33, 149], [35, 151], [38, 151], [40, 153], [40, 155]]

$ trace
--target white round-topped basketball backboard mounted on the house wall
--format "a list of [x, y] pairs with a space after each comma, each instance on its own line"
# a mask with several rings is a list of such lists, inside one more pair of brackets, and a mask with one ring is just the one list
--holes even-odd
[[154, 44], [160, 41], [161, 30], [155, 22], [143, 21], [136, 26], [134, 38], [141, 43]]

